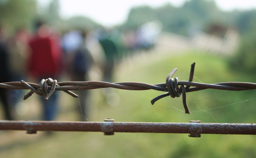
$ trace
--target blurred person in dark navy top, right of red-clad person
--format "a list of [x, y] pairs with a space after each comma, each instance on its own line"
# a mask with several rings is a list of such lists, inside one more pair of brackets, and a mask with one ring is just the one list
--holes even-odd
[[[72, 79], [74, 81], [88, 81], [89, 70], [94, 62], [86, 44], [87, 33], [82, 31], [80, 34], [82, 36], [82, 42], [77, 50], [75, 50], [72, 57]], [[86, 121], [88, 117], [89, 91], [80, 90], [78, 91], [78, 95], [80, 96], [79, 111], [81, 111], [83, 115], [82, 121]]]

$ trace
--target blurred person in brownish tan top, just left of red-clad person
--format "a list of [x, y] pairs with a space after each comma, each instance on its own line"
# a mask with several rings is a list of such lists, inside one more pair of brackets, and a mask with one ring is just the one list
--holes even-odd
[[[28, 55], [29, 35], [27, 30], [17, 29], [7, 42], [10, 67], [10, 81], [21, 81], [26, 79], [27, 74], [27, 55]], [[12, 106], [16, 107], [21, 94], [17, 90], [10, 89], [10, 101]], [[20, 91], [22, 92], [22, 91]]]

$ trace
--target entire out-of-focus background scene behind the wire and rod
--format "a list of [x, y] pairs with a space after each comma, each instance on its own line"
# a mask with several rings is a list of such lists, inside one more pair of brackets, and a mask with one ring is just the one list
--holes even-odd
[[[256, 82], [256, 3], [251, 0], [0, 0], [0, 82]], [[1, 120], [255, 123], [256, 91], [206, 89], [150, 104], [160, 91], [0, 89]], [[242, 135], [0, 131], [5, 158], [256, 157]]]

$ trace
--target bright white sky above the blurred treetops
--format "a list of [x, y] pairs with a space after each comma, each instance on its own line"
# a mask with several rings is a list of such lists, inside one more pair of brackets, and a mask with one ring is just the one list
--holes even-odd
[[[47, 5], [50, 0], [38, 0]], [[100, 24], [111, 26], [124, 22], [129, 10], [137, 5], [159, 7], [167, 2], [179, 7], [185, 0], [59, 0], [60, 14], [64, 18], [85, 15]], [[248, 10], [256, 8], [254, 0], [215, 0], [221, 10]]]

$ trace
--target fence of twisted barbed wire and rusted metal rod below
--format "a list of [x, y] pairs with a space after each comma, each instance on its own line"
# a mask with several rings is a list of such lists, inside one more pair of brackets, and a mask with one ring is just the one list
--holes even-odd
[[[67, 81], [57, 82], [51, 78], [42, 79], [40, 83], [33, 84], [25, 81], [0, 83], [0, 88], [6, 89], [30, 89], [31, 91], [24, 96], [24, 100], [33, 93], [43, 96], [45, 100], [50, 99], [54, 91], [65, 91], [73, 97], [78, 97], [71, 90], [88, 90], [99, 88], [117, 88], [126, 90], [148, 90], [166, 91], [166, 93], [152, 99], [154, 104], [157, 100], [166, 96], [172, 98], [182, 94], [185, 113], [189, 114], [186, 104], [186, 92], [199, 91], [203, 89], [221, 90], [251, 90], [256, 89], [255, 83], [249, 82], [222, 82], [215, 84], [204, 84], [193, 82], [195, 63], [191, 64], [189, 81], [178, 81], [178, 78], [171, 77], [177, 71], [173, 69], [167, 76], [166, 83], [145, 84], [138, 82], [118, 82], [108, 83], [101, 81]], [[192, 87], [191, 87], [192, 86]], [[59, 122], [59, 121], [0, 121], [0, 130], [25, 130], [27, 133], [36, 131], [97, 131], [104, 132], [105, 135], [113, 135], [114, 132], [145, 132], [145, 133], [191, 133], [192, 137], [200, 137], [201, 133], [208, 134], [256, 134], [256, 124], [246, 123], [143, 123], [143, 122], [114, 122], [112, 119], [105, 119], [104, 122]]]

